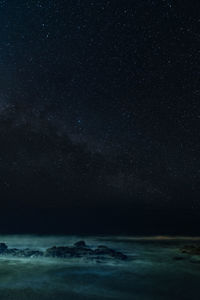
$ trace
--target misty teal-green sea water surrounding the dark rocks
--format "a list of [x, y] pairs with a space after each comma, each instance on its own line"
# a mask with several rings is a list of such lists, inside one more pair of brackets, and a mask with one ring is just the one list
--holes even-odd
[[[0, 300], [200, 299], [200, 258], [182, 255], [198, 238], [0, 236], [9, 247], [45, 250], [85, 240], [128, 255], [127, 261], [0, 256]], [[175, 260], [184, 256], [183, 260]]]

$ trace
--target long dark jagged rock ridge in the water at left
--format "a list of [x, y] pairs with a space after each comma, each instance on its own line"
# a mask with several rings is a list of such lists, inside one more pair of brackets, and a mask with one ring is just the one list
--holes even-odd
[[5, 243], [0, 243], [0, 255], [12, 255], [17, 257], [58, 257], [73, 258], [87, 257], [95, 259], [117, 259], [126, 260], [127, 256], [120, 251], [116, 251], [104, 245], [99, 245], [92, 249], [84, 241], [78, 241], [73, 246], [53, 246], [45, 251], [8, 248]]

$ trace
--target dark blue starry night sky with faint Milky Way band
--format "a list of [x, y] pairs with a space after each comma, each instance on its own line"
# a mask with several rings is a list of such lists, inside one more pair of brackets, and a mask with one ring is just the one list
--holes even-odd
[[200, 4], [0, 1], [0, 231], [200, 234]]

